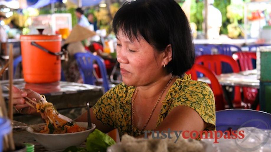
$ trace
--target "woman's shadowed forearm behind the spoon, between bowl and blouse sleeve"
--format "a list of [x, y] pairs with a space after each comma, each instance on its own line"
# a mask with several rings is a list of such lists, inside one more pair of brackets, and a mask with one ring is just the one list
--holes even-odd
[[[112, 131], [114, 129], [109, 126], [105, 126], [103, 123], [101, 123], [101, 121], [99, 121], [94, 115], [92, 108], [90, 108], [90, 116], [91, 116], [91, 123], [94, 123], [96, 125], [96, 128], [102, 131], [103, 133], [108, 133], [109, 131]], [[87, 122], [87, 120], [88, 120], [88, 112], [86, 111], [81, 116], [76, 118], [74, 121]]]

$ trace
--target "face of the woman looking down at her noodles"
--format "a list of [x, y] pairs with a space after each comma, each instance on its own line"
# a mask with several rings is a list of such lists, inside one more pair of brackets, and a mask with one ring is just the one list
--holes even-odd
[[156, 51], [142, 36], [131, 42], [120, 30], [116, 37], [117, 60], [126, 85], [145, 86], [164, 76], [163, 53]]

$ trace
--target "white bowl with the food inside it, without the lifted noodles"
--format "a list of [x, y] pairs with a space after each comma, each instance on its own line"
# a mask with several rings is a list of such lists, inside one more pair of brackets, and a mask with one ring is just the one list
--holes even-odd
[[[60, 129], [52, 130], [50, 123], [40, 123], [29, 126], [27, 131], [46, 149], [61, 150], [81, 145], [96, 128], [95, 124], [92, 124], [91, 129], [86, 129], [87, 126], [87, 122], [68, 122]], [[49, 132], [46, 129], [49, 129]]]

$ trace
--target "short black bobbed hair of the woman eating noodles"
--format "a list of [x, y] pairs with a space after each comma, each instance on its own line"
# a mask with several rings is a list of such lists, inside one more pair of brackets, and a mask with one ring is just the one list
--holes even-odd
[[132, 39], [143, 38], [158, 51], [171, 44], [172, 61], [166, 66], [173, 75], [183, 76], [195, 61], [188, 19], [174, 0], [126, 1], [113, 19], [114, 33], [121, 30]]

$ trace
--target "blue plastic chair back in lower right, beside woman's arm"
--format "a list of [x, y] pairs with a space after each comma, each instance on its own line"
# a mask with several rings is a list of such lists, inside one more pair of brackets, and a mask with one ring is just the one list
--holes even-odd
[[216, 130], [237, 130], [241, 127], [271, 129], [271, 114], [251, 109], [226, 109], [216, 111]]

